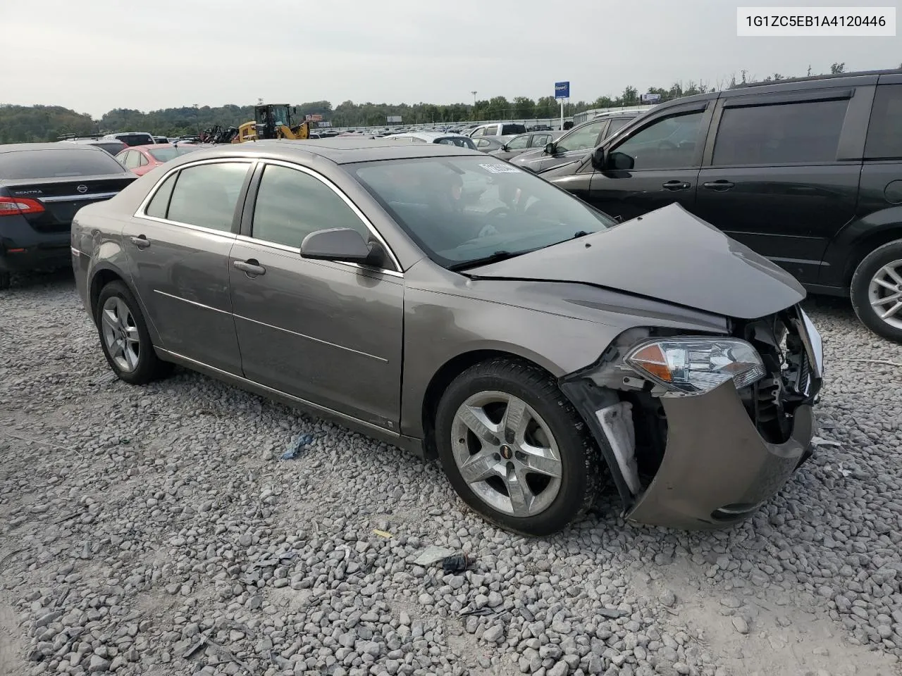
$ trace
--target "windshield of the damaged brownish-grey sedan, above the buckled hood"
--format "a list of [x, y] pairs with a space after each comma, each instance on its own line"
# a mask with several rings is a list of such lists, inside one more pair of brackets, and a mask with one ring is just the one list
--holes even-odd
[[615, 224], [535, 174], [492, 157], [386, 160], [352, 171], [429, 258], [450, 269]]

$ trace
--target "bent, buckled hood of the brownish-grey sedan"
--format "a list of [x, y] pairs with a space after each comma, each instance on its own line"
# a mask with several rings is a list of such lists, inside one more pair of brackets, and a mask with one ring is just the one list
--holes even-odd
[[805, 298], [787, 271], [677, 204], [465, 274], [580, 282], [741, 319]]

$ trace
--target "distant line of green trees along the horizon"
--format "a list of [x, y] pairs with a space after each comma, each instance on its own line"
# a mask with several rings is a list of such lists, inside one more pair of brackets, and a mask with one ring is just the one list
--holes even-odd
[[[902, 69], [902, 64], [899, 65]], [[833, 74], [845, 72], [845, 63], [836, 62], [830, 67]], [[809, 67], [805, 75], [815, 73]], [[658, 94], [662, 101], [681, 96], [704, 94], [750, 82], [776, 82], [785, 79], [780, 73], [756, 78], [747, 70], [733, 74], [714, 83], [704, 80], [676, 82], [670, 87], [646, 87], [642, 93]], [[564, 106], [566, 116], [593, 108], [616, 108], [640, 104], [640, 90], [625, 87], [617, 96], [599, 96], [592, 101], [568, 101]], [[333, 107], [329, 101], [308, 101], [297, 105], [299, 116], [319, 114], [336, 127], [376, 126], [386, 124], [389, 116], [400, 115], [403, 123], [459, 123], [492, 119], [555, 119], [560, 114], [560, 104], [553, 96], [532, 99], [528, 96], [492, 96], [477, 99], [473, 104], [378, 104], [343, 101]], [[63, 134], [88, 135], [119, 131], [148, 131], [165, 136], [195, 134], [216, 124], [238, 126], [253, 119], [253, 105], [194, 105], [165, 108], [144, 113], [129, 108], [115, 108], [99, 119], [79, 114], [59, 105], [0, 105], [0, 143], [56, 141]]]

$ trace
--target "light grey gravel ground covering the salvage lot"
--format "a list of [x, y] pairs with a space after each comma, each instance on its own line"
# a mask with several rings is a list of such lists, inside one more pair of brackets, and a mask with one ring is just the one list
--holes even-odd
[[[0, 292], [0, 673], [902, 673], [902, 348], [811, 310], [824, 443], [759, 514], [685, 534], [608, 497], [529, 540], [435, 463], [186, 371], [110, 379], [69, 276], [23, 279]], [[429, 545], [473, 567], [414, 564]]]

